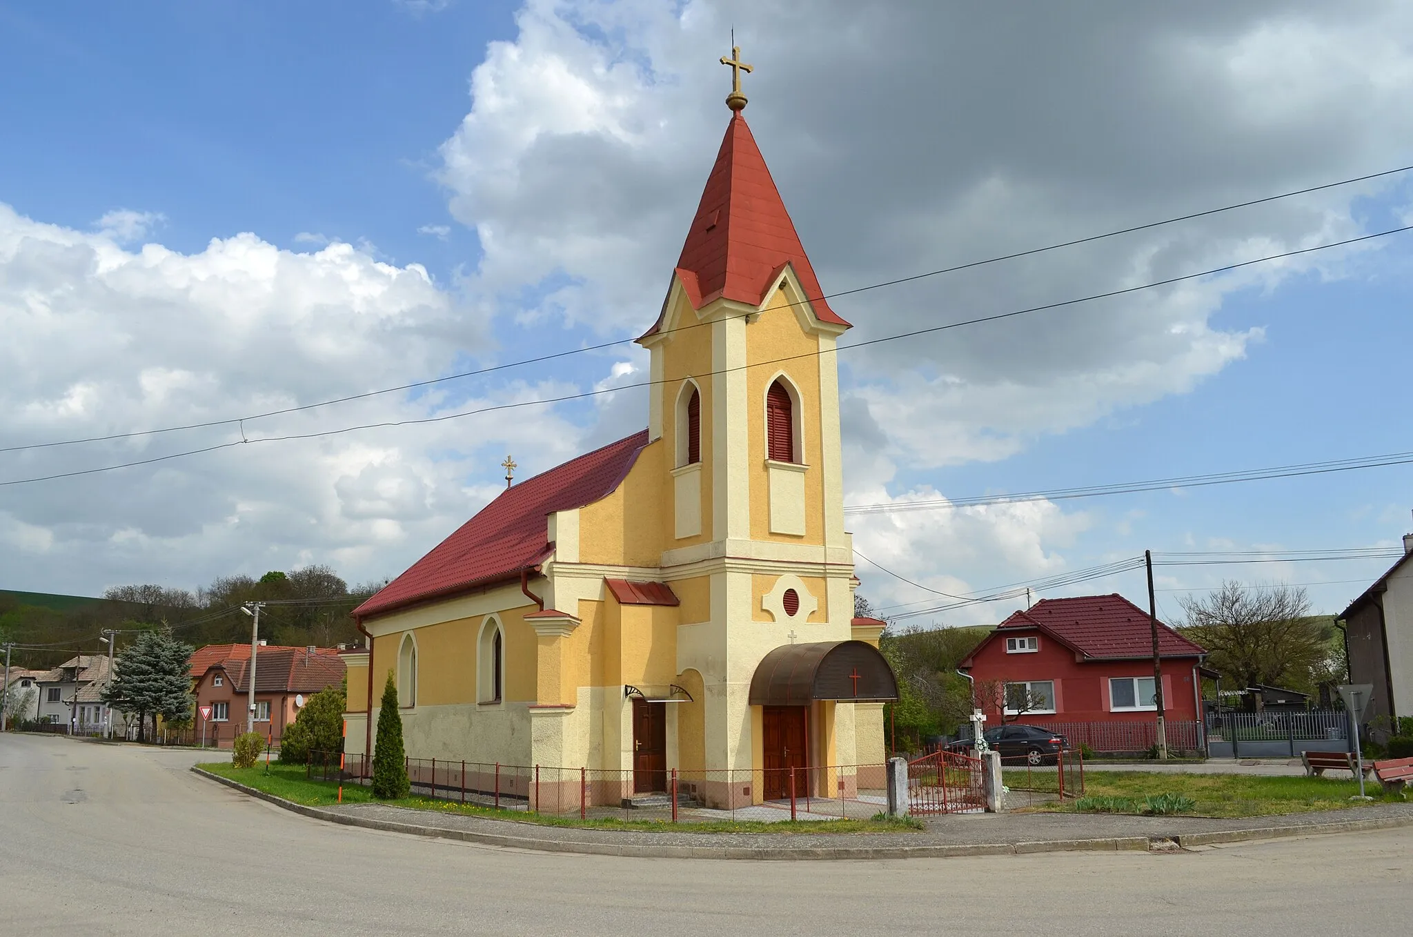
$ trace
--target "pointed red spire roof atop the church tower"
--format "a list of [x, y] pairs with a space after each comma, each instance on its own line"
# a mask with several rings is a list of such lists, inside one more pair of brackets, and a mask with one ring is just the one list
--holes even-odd
[[[738, 110], [706, 177], [702, 201], [677, 260], [677, 276], [692, 308], [699, 310], [718, 297], [760, 305], [786, 264], [794, 267], [820, 321], [848, 328], [849, 324], [824, 300], [790, 212]], [[663, 315], [644, 338], [657, 332]]]

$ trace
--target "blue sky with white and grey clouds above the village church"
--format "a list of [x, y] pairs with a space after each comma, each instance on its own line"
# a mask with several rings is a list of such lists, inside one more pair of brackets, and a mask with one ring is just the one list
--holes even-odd
[[[78, 20], [0, 3], [0, 73], [23, 89], [0, 98], [0, 437], [253, 413], [636, 335], [725, 126], [731, 25], [757, 65], [747, 119], [825, 290], [1413, 163], [1396, 3], [1338, 20], [1304, 3], [1047, 16], [367, 0]], [[882, 42], [892, 55], [855, 55]], [[1393, 226], [1407, 201], [1399, 181], [1365, 184], [835, 308], [869, 339]], [[846, 500], [1413, 449], [1407, 239], [848, 358]], [[643, 366], [617, 348], [253, 430], [613, 387]], [[634, 391], [510, 414], [3, 489], [0, 585], [191, 588], [308, 562], [393, 575], [495, 495], [506, 451], [541, 471], [646, 420]], [[232, 432], [0, 454], [0, 476]], [[1410, 479], [913, 512], [855, 533], [907, 578], [974, 591], [1143, 548], [1392, 548]], [[1173, 618], [1183, 589], [1224, 575], [1324, 584], [1311, 598], [1335, 612], [1385, 565], [1167, 568], [1160, 588]], [[859, 575], [879, 605], [928, 596]], [[1070, 592], [1085, 589], [1139, 599], [1142, 579]]]

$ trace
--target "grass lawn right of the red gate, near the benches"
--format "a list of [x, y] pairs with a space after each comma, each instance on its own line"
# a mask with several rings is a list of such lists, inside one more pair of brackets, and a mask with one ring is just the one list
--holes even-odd
[[[1084, 793], [1091, 797], [1125, 797], [1139, 801], [1149, 794], [1181, 794], [1197, 801], [1187, 815], [1263, 817], [1311, 810], [1341, 810], [1368, 803], [1405, 803], [1385, 796], [1378, 782], [1365, 782], [1372, 801], [1349, 800], [1359, 794], [1359, 782], [1332, 777], [1266, 777], [1260, 774], [1184, 774], [1159, 772], [1085, 772]], [[1040, 807], [1074, 813], [1074, 804]]]

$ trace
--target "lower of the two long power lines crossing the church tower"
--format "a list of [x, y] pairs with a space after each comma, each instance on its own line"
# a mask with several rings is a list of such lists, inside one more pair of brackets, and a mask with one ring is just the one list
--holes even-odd
[[[959, 321], [959, 322], [948, 322], [947, 325], [934, 325], [934, 326], [928, 326], [928, 328], [913, 329], [910, 332], [901, 332], [899, 335], [886, 335], [883, 338], [875, 338], [875, 339], [868, 339], [868, 341], [862, 341], [862, 342], [852, 342], [849, 345], [838, 346], [838, 348], [835, 348], [832, 350], [815, 350], [815, 352], [804, 352], [804, 353], [800, 353], [800, 355], [787, 355], [787, 356], [774, 358], [774, 359], [770, 359], [770, 360], [755, 362], [755, 363], [750, 363], [750, 365], [738, 365], [735, 367], [723, 367], [721, 370], [711, 370], [711, 372], [704, 372], [701, 375], [690, 375], [690, 376], [691, 377], [711, 377], [711, 376], [728, 375], [728, 373], [738, 372], [738, 370], [749, 370], [750, 367], [766, 367], [769, 365], [779, 365], [779, 363], [783, 363], [783, 362], [790, 362], [790, 360], [800, 360], [800, 359], [805, 359], [805, 358], [818, 358], [821, 355], [834, 355], [834, 353], [838, 353], [838, 352], [846, 352], [846, 350], [852, 350], [852, 349], [856, 349], [856, 348], [868, 348], [870, 345], [882, 345], [885, 342], [896, 342], [896, 341], [906, 339], [906, 338], [917, 338], [920, 335], [933, 335], [933, 334], [937, 334], [937, 332], [945, 332], [945, 331], [955, 329], [955, 328], [962, 328], [962, 326], [966, 326], [966, 325], [979, 325], [979, 324], [983, 324], [983, 322], [998, 322], [998, 321], [1015, 318], [1015, 317], [1019, 317], [1019, 315], [1029, 315], [1031, 312], [1043, 312], [1043, 311], [1048, 311], [1048, 310], [1060, 310], [1060, 308], [1067, 308], [1067, 307], [1072, 307], [1072, 305], [1080, 305], [1082, 302], [1092, 302], [1095, 300], [1106, 300], [1106, 298], [1112, 298], [1112, 297], [1119, 297], [1119, 295], [1128, 295], [1128, 294], [1132, 294], [1132, 293], [1139, 293], [1139, 291], [1143, 291], [1143, 290], [1153, 290], [1153, 288], [1157, 288], [1157, 287], [1171, 285], [1174, 283], [1183, 283], [1183, 281], [1187, 281], [1187, 280], [1197, 280], [1197, 278], [1201, 278], [1201, 277], [1210, 277], [1210, 276], [1214, 276], [1214, 274], [1218, 274], [1218, 273], [1229, 273], [1232, 270], [1239, 270], [1242, 267], [1251, 267], [1251, 266], [1260, 264], [1260, 263], [1269, 263], [1272, 260], [1283, 260], [1286, 257], [1296, 257], [1296, 256], [1300, 256], [1300, 254], [1316, 253], [1316, 252], [1320, 252], [1320, 250], [1330, 250], [1332, 247], [1345, 247], [1348, 244], [1355, 244], [1355, 243], [1359, 243], [1359, 242], [1372, 240], [1375, 237], [1386, 237], [1389, 235], [1399, 235], [1399, 233], [1403, 233], [1403, 232], [1407, 232], [1407, 230], [1413, 230], [1413, 225], [1405, 225], [1402, 228], [1390, 228], [1388, 230], [1375, 232], [1372, 235], [1361, 235], [1358, 237], [1348, 237], [1345, 240], [1331, 242], [1328, 244], [1316, 244], [1314, 247], [1300, 247], [1297, 250], [1287, 250], [1287, 252], [1282, 252], [1279, 254], [1269, 254], [1266, 257], [1256, 257], [1253, 260], [1243, 260], [1241, 263], [1224, 264], [1221, 267], [1212, 267], [1210, 270], [1201, 270], [1198, 273], [1188, 273], [1188, 274], [1183, 274], [1183, 276], [1177, 276], [1177, 277], [1169, 277], [1166, 280], [1156, 280], [1153, 283], [1145, 283], [1145, 284], [1139, 284], [1139, 285], [1133, 285], [1133, 287], [1123, 287], [1123, 288], [1119, 288], [1119, 290], [1109, 290], [1106, 293], [1095, 293], [1095, 294], [1091, 294], [1091, 295], [1087, 295], [1087, 297], [1078, 297], [1078, 298], [1074, 298], [1074, 300], [1063, 300], [1060, 302], [1047, 302], [1044, 305], [1029, 307], [1029, 308], [1024, 308], [1024, 310], [1013, 310], [1010, 312], [998, 312], [995, 315], [983, 315], [983, 317], [978, 317], [978, 318], [974, 318], [974, 319], [964, 319], [964, 321]], [[356, 431], [362, 431], [362, 430], [380, 430], [380, 428], [391, 428], [391, 427], [444, 423], [447, 420], [459, 420], [462, 417], [472, 417], [472, 416], [479, 416], [479, 414], [485, 414], [485, 413], [493, 413], [493, 411], [499, 411], [499, 410], [516, 410], [516, 408], [520, 408], [520, 407], [538, 407], [538, 406], [545, 406], [545, 404], [552, 404], [552, 403], [567, 403], [567, 401], [572, 401], [572, 400], [586, 400], [586, 399], [591, 399], [591, 397], [598, 397], [598, 396], [610, 394], [610, 393], [619, 393], [619, 391], [632, 390], [632, 389], [636, 389], [636, 387], [653, 387], [656, 384], [675, 383], [677, 380], [681, 380], [681, 379], [674, 379], [674, 380], [667, 380], [667, 379], [663, 379], [663, 380], [643, 380], [643, 382], [636, 382], [636, 383], [632, 383], [632, 384], [622, 384], [622, 386], [617, 386], [617, 387], [603, 387], [603, 389], [599, 389], [599, 390], [586, 390], [586, 391], [577, 393], [577, 394], [564, 394], [564, 396], [560, 396], [560, 397], [545, 397], [545, 399], [540, 399], [540, 400], [521, 400], [521, 401], [516, 401], [516, 403], [496, 404], [496, 406], [490, 406], [490, 407], [478, 407], [475, 410], [463, 410], [461, 413], [449, 413], [449, 414], [442, 414], [442, 416], [438, 416], [438, 417], [418, 417], [418, 418], [408, 418], [408, 420], [387, 420], [387, 421], [383, 421], [383, 423], [365, 423], [365, 424], [350, 425], [350, 427], [342, 427], [342, 428], [338, 428], [338, 430], [321, 430], [321, 431], [317, 431], [317, 432], [295, 432], [295, 434], [277, 435], [277, 437], [257, 437], [257, 438], [253, 438], [253, 440], [252, 438], [242, 438], [242, 440], [232, 441], [232, 442], [223, 442], [223, 444], [218, 444], [218, 445], [202, 447], [199, 449], [189, 449], [189, 451], [184, 451], [184, 452], [172, 452], [172, 454], [168, 454], [168, 455], [154, 456], [154, 458], [148, 458], [148, 459], [137, 459], [137, 461], [133, 461], [133, 462], [120, 462], [120, 464], [116, 464], [116, 465], [105, 465], [105, 466], [92, 468], [92, 469], [76, 469], [76, 471], [72, 471], [72, 472], [55, 472], [52, 475], [38, 475], [38, 476], [34, 476], [34, 478], [10, 479], [10, 481], [0, 482], [0, 488], [10, 486], [10, 485], [28, 485], [28, 483], [32, 483], [32, 482], [48, 482], [48, 481], [61, 479], [61, 478], [76, 478], [76, 476], [81, 476], [81, 475], [95, 475], [95, 473], [99, 473], [99, 472], [112, 472], [114, 469], [133, 468], [133, 466], [138, 466], [138, 465], [151, 465], [154, 462], [164, 462], [164, 461], [168, 461], [168, 459], [185, 458], [188, 455], [199, 455], [199, 454], [203, 454], [203, 452], [212, 452], [212, 451], [216, 451], [216, 449], [226, 449], [226, 448], [232, 448], [232, 447], [236, 447], [236, 445], [249, 445], [249, 444], [253, 444], [253, 442], [287, 442], [287, 441], [292, 441], [292, 440], [314, 440], [314, 438], [339, 435], [339, 434], [343, 434], [343, 432], [356, 432]], [[1364, 466], [1361, 466], [1361, 468], [1364, 468]]]

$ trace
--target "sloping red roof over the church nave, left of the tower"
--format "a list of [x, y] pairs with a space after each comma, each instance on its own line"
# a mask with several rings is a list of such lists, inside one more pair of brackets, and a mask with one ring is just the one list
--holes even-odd
[[613, 492], [644, 445], [647, 430], [507, 488], [407, 572], [353, 609], [353, 615], [359, 619], [383, 615], [534, 568], [552, 551], [547, 517], [592, 505]]

